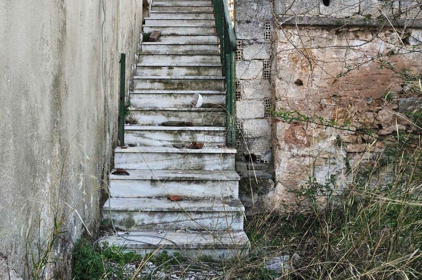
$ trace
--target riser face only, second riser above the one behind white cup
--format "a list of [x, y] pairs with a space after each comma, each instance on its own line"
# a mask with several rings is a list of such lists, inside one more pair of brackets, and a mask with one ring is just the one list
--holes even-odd
[[221, 66], [138, 66], [136, 76], [221, 76]]

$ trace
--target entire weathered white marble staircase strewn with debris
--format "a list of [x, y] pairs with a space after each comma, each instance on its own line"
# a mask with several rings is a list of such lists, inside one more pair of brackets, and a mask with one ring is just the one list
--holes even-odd
[[[132, 76], [131, 116], [110, 175], [103, 218], [124, 230], [104, 241], [138, 254], [166, 250], [227, 258], [247, 252], [234, 148], [226, 146], [225, 80], [211, 0], [154, 0]], [[193, 95], [204, 103], [192, 108]], [[168, 127], [167, 121], [195, 126]], [[192, 142], [202, 149], [187, 149]], [[170, 201], [180, 196], [181, 201]], [[123, 235], [125, 233], [125, 235]]]

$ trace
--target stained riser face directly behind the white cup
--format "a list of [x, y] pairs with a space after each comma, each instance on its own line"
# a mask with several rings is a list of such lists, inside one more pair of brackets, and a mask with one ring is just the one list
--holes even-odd
[[[201, 94], [204, 102], [212, 104], [226, 103], [224, 94]], [[131, 102], [133, 107], [182, 107], [192, 101], [192, 94], [139, 94], [131, 93]]]

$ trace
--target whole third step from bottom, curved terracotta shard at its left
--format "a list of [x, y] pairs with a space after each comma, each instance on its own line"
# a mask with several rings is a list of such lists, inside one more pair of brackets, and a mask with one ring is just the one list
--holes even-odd
[[110, 195], [113, 198], [153, 198], [170, 195], [184, 198], [238, 197], [240, 177], [236, 171], [126, 171], [129, 176], [110, 174]]

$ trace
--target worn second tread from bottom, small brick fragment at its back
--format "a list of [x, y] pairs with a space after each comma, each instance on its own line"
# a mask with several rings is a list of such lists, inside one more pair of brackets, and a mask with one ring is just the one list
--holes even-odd
[[185, 198], [172, 202], [167, 198], [109, 198], [103, 210], [111, 211], [162, 211], [162, 212], [238, 212], [245, 208], [239, 199]]

